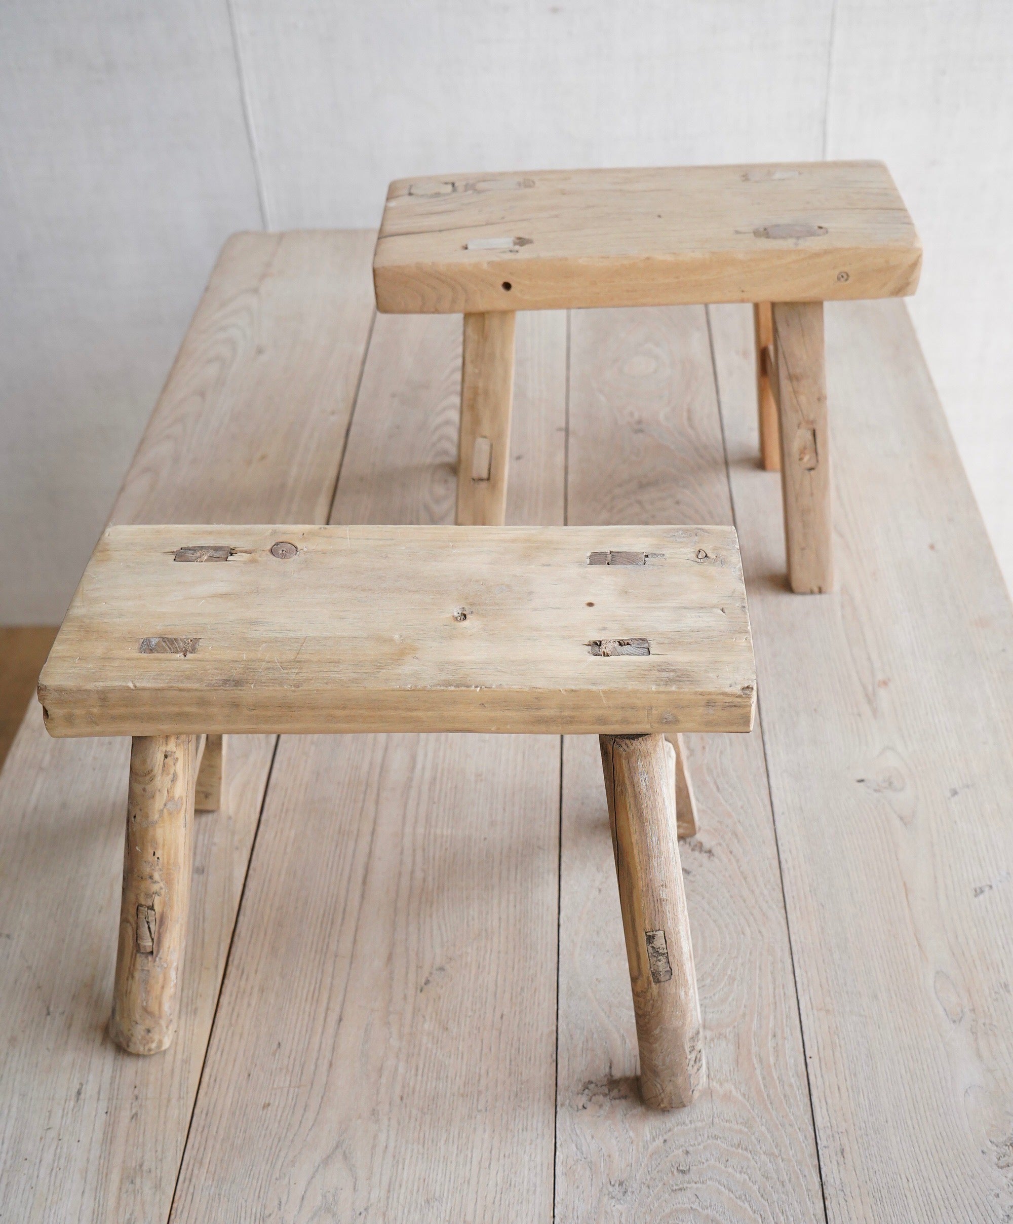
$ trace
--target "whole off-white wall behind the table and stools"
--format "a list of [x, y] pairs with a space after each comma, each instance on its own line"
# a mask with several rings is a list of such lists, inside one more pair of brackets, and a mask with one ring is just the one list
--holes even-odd
[[1013, 579], [1009, 0], [5, 0], [0, 622], [59, 621], [217, 248], [416, 173], [882, 157]]

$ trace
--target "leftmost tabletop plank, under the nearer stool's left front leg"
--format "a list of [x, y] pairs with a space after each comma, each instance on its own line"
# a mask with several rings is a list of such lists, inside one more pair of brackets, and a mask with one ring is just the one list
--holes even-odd
[[[344, 437], [335, 420], [347, 420], [372, 316], [371, 246], [371, 235], [322, 236], [311, 263], [301, 241], [278, 235], [226, 245], [117, 521], [306, 521], [321, 507], [327, 515]], [[299, 291], [296, 268], [306, 275]], [[357, 351], [343, 340], [352, 330]], [[276, 361], [289, 362], [284, 382], [273, 379]], [[307, 373], [324, 386], [305, 382]], [[302, 424], [283, 425], [262, 386], [305, 404], [295, 414]], [[228, 424], [217, 424], [219, 405]], [[332, 448], [329, 470], [311, 455], [314, 446]], [[104, 1038], [128, 742], [50, 741], [34, 709], [22, 725], [0, 781], [0, 931], [9, 936], [0, 939], [0, 1160], [11, 1219], [105, 1224], [169, 1213], [274, 738], [234, 748], [228, 812], [196, 821], [176, 1040], [155, 1059], [130, 1059]]]

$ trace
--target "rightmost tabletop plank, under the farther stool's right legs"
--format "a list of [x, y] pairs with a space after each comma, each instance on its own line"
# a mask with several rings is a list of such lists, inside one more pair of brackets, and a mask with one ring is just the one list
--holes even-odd
[[863, 304], [827, 311], [838, 590], [785, 599], [749, 319], [711, 317], [829, 1219], [1000, 1224], [1009, 596], [904, 307]]

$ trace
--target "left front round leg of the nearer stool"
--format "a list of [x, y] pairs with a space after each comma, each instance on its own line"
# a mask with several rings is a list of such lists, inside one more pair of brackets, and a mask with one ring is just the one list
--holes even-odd
[[176, 1031], [186, 944], [197, 736], [136, 736], [130, 754], [113, 1039], [157, 1054]]

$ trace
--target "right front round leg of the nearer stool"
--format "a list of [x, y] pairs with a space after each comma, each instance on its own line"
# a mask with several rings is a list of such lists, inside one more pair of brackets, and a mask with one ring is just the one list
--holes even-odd
[[666, 741], [599, 741], [640, 1047], [640, 1092], [657, 1109], [680, 1109], [702, 1083], [703, 1039]]

